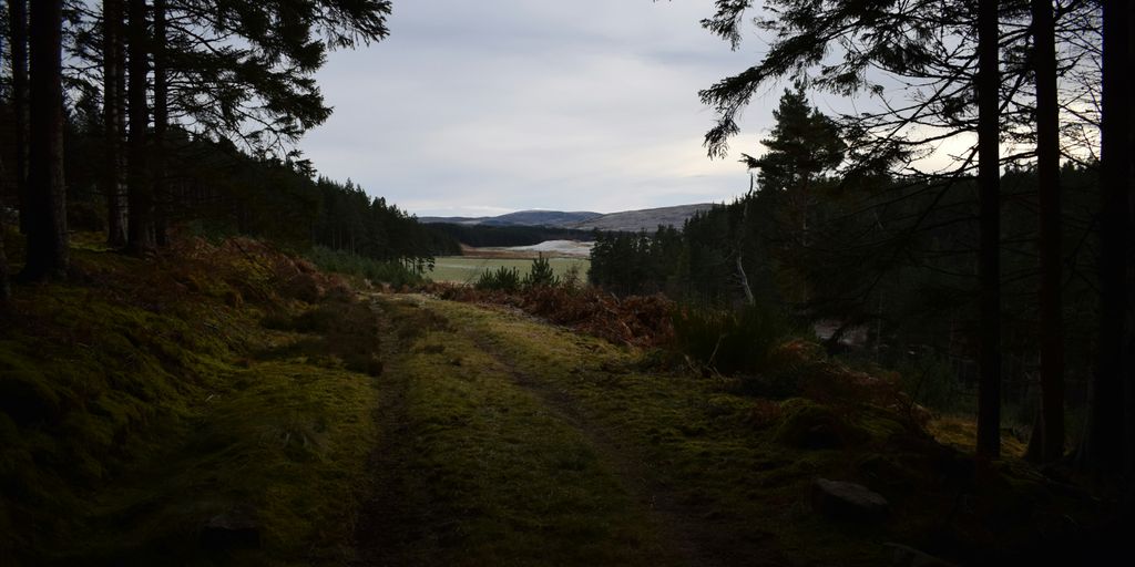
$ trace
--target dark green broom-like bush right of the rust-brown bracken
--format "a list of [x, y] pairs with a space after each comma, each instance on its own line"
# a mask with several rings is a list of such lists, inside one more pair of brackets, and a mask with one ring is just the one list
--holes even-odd
[[753, 305], [737, 311], [684, 306], [674, 311], [673, 325], [678, 353], [722, 374], [764, 370], [788, 335], [781, 318]]

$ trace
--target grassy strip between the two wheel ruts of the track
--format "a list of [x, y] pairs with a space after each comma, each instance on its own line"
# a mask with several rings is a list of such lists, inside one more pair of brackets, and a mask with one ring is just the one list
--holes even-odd
[[[432, 305], [384, 298], [406, 353], [406, 536], [389, 565], [669, 565], [589, 440]], [[379, 494], [381, 497], [381, 494]]]

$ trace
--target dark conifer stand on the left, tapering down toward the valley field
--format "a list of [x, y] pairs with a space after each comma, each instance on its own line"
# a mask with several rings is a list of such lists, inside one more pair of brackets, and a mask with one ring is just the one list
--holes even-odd
[[[0, 204], [23, 280], [66, 278], [72, 230], [145, 255], [171, 227], [274, 238], [421, 271], [454, 240], [351, 181], [313, 179], [294, 143], [330, 115], [331, 46], [386, 36], [386, 0], [9, 0]], [[0, 280], [7, 266], [0, 251]], [[7, 289], [6, 286], [0, 286]]]

